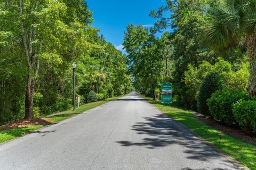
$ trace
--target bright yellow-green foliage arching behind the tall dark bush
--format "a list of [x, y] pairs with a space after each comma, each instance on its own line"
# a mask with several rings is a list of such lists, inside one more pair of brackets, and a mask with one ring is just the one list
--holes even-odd
[[247, 62], [237, 65], [219, 58], [215, 64], [204, 61], [197, 68], [189, 64], [188, 70], [185, 71], [184, 83], [187, 88], [187, 101], [191, 103], [191, 108], [196, 108], [195, 103], [203, 79], [212, 71], [218, 72], [228, 89], [246, 91], [249, 79], [249, 63]]

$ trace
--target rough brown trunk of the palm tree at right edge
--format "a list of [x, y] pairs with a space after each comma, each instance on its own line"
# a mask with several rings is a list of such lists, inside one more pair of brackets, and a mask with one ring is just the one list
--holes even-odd
[[256, 37], [250, 36], [247, 38], [247, 52], [250, 62], [250, 79], [249, 79], [249, 95], [250, 99], [256, 95]]

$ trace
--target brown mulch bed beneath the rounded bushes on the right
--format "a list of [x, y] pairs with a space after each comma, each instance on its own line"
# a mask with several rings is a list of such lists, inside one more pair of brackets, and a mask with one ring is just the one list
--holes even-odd
[[207, 119], [204, 117], [196, 117], [197, 119], [201, 120], [202, 122], [206, 123], [207, 125], [218, 129], [219, 131], [226, 133], [230, 136], [233, 136], [235, 139], [244, 141], [246, 143], [250, 143], [256, 146], [256, 134], [252, 132], [245, 132], [239, 129], [238, 127], [229, 127], [227, 125], [223, 125], [216, 120]]

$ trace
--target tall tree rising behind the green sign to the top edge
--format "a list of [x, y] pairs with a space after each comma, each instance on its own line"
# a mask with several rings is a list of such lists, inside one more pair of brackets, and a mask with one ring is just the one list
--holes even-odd
[[172, 81], [176, 87], [179, 103], [188, 108], [194, 108], [190, 101], [187, 88], [182, 81], [188, 65], [198, 67], [202, 61], [214, 63], [217, 56], [209, 48], [205, 39], [205, 27], [209, 18], [210, 6], [215, 6], [218, 1], [192, 1], [192, 0], [167, 0], [166, 5], [159, 7], [157, 11], [151, 11], [150, 16], [158, 19], [156, 31], [171, 32], [171, 59], [173, 62]]

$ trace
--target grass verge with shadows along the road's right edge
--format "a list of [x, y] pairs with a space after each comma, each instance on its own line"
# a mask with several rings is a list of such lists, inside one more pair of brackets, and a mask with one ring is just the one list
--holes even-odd
[[148, 102], [153, 104], [158, 109], [162, 110], [165, 114], [186, 125], [192, 131], [196, 132], [198, 135], [214, 144], [223, 152], [226, 152], [229, 156], [240, 161], [250, 169], [256, 170], [255, 145], [247, 144], [227, 134], [222, 136], [221, 142], [219, 144], [221, 132], [196, 119], [195, 115], [191, 112], [180, 109], [175, 106], [175, 104], [164, 106], [161, 102], [153, 101], [151, 98], [145, 99], [147, 99]]

